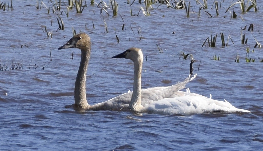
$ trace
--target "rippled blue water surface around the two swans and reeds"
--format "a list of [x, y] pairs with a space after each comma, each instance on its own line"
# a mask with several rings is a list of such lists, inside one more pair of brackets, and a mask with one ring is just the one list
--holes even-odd
[[[109, 1], [105, 2], [110, 6]], [[0, 63], [9, 69], [0, 71], [1, 149], [261, 150], [263, 54], [262, 49], [254, 48], [253, 35], [263, 43], [262, 1], [257, 1], [259, 12], [251, 9], [242, 14], [239, 4], [230, 8], [236, 12], [236, 19], [231, 19], [224, 9], [232, 1], [222, 2], [219, 16], [214, 5], [210, 9], [213, 2], [209, 1], [206, 11], [213, 17], [204, 9], [199, 16], [200, 5], [190, 2], [189, 18], [185, 9], [158, 3], [153, 5], [150, 16], [144, 16], [142, 11], [137, 16], [141, 6], [145, 9], [144, 3], [138, 1], [132, 6], [127, 1], [118, 1], [117, 17], [113, 17], [111, 7], [105, 9], [108, 17], [104, 10], [101, 14], [101, 8], [90, 6], [87, 1], [82, 14], [76, 14], [74, 7], [67, 18], [67, 7], [62, 4], [61, 11], [55, 12], [65, 24], [63, 31], [57, 30], [58, 15], [51, 8], [48, 14], [43, 4], [41, 9], [26, 6], [36, 5], [36, 1], [13, 1], [13, 11], [0, 9]], [[43, 3], [47, 7], [53, 5], [47, 0]], [[135, 16], [130, 15], [130, 9]], [[104, 20], [108, 33], [104, 32]], [[247, 45], [241, 45], [241, 28], [250, 24], [254, 25], [254, 31], [242, 31], [248, 41]], [[52, 33], [52, 39], [47, 38], [45, 27]], [[143, 88], [170, 86], [183, 80], [189, 74], [190, 60], [183, 60], [178, 53], [192, 53], [196, 60], [194, 72], [198, 75], [187, 85], [191, 92], [212, 94], [213, 99], [226, 99], [252, 113], [164, 116], [129, 111], [76, 111], [70, 105], [74, 103], [74, 82], [81, 54], [78, 49], [58, 50], [72, 37], [72, 28], [77, 33], [88, 33], [92, 41], [87, 73], [89, 104], [132, 89], [132, 62], [111, 57], [129, 47], [139, 47], [144, 53]], [[211, 32], [212, 36], [218, 33], [216, 48], [209, 48], [207, 42], [207, 47], [201, 47]], [[234, 44], [229, 40], [227, 47], [221, 47], [220, 32], [224, 33], [225, 41], [230, 35]], [[156, 44], [163, 53], [159, 53]], [[239, 63], [235, 62], [237, 53]], [[215, 55], [220, 56], [219, 61], [213, 60]], [[246, 63], [245, 57], [255, 62]], [[22, 69], [11, 70], [12, 64], [19, 64]]]

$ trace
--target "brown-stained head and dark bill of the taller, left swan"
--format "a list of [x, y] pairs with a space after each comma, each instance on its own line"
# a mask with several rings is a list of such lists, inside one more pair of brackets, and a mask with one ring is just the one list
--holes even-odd
[[86, 33], [79, 33], [73, 36], [65, 45], [58, 48], [67, 49], [67, 48], [79, 48], [80, 50], [89, 50], [90, 49], [90, 37]]

